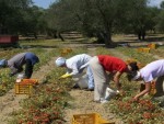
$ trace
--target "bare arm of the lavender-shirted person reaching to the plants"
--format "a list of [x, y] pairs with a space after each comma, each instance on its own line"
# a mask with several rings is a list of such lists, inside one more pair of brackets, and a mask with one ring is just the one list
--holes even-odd
[[139, 94], [137, 94], [133, 99], [136, 101], [138, 101], [140, 97], [142, 97], [145, 93], [150, 92], [150, 90], [151, 90], [151, 82], [145, 82], [145, 89], [143, 91], [141, 91]]

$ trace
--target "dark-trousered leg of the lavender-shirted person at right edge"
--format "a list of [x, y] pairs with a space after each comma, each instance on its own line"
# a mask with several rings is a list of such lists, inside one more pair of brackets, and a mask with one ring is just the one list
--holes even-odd
[[156, 88], [156, 93], [154, 97], [164, 95], [164, 76], [161, 76], [156, 79], [155, 88]]

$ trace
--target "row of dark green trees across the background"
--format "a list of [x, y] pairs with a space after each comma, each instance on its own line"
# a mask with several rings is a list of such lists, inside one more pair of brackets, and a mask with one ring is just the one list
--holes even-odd
[[132, 33], [144, 40], [147, 32], [164, 31], [164, 1], [149, 7], [149, 0], [56, 0], [48, 9], [32, 0], [0, 0], [0, 34], [38, 34], [57, 37], [79, 31], [96, 36], [106, 46], [115, 33]]

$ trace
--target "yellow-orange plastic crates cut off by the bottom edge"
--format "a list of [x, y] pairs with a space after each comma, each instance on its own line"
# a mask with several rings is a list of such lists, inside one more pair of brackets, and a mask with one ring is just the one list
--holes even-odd
[[89, 113], [73, 115], [72, 124], [115, 124], [115, 122], [102, 119], [98, 113]]

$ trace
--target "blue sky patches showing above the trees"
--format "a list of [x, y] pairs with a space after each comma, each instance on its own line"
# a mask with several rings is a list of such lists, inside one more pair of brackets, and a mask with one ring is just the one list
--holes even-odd
[[[47, 9], [49, 7], [49, 4], [51, 4], [52, 2], [55, 2], [56, 0], [33, 0], [35, 5], [42, 7], [44, 9]], [[160, 7], [160, 3], [164, 0], [150, 0], [150, 4], [151, 5], [157, 5]]]

